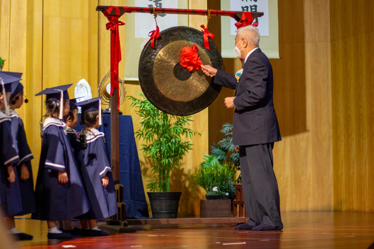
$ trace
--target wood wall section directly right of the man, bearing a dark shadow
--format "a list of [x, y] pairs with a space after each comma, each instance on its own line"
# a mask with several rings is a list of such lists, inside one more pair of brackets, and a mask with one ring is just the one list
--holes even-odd
[[[333, 210], [329, 0], [278, 1], [274, 171], [282, 211]], [[261, 41], [260, 41], [261, 47]]]

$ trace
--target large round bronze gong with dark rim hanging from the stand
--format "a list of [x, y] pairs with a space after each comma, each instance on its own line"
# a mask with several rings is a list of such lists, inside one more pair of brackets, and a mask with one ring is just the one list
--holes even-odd
[[209, 48], [204, 48], [200, 30], [179, 26], [160, 32], [156, 49], [149, 42], [139, 61], [139, 82], [146, 98], [158, 109], [169, 114], [187, 116], [208, 107], [218, 96], [221, 86], [213, 84], [214, 77], [201, 70], [189, 72], [180, 62], [182, 50], [196, 43], [203, 65], [224, 70], [217, 46], [209, 38]]

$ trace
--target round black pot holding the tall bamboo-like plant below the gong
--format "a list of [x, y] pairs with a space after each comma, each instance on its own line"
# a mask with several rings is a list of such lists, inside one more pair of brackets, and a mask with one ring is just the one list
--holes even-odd
[[147, 192], [155, 219], [174, 219], [178, 215], [182, 192]]

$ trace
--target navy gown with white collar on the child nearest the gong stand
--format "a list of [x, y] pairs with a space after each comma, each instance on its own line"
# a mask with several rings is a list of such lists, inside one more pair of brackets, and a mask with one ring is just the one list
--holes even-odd
[[[86, 135], [87, 149], [78, 153], [79, 166], [91, 209], [82, 220], [104, 219], [118, 213], [112, 170], [104, 147], [104, 133], [97, 129], [81, 131]], [[101, 178], [107, 175], [109, 184], [103, 187]]]

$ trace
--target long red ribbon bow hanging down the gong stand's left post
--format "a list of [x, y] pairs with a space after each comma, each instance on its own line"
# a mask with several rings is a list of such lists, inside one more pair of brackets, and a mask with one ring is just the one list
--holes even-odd
[[[113, 8], [116, 11], [116, 15], [110, 15]], [[110, 95], [113, 95], [114, 89], [118, 91], [118, 110], [120, 109], [120, 90], [118, 83], [118, 63], [122, 60], [121, 56], [121, 44], [120, 44], [120, 34], [118, 31], [118, 26], [125, 25], [124, 22], [119, 21], [118, 17], [120, 15], [119, 7], [109, 6], [107, 10], [103, 11], [105, 17], [108, 18], [109, 22], [106, 24], [107, 30], [110, 29]]]

